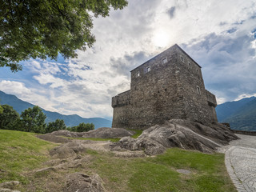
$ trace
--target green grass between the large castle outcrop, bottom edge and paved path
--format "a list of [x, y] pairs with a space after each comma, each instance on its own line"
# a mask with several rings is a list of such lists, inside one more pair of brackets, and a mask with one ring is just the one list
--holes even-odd
[[[224, 154], [169, 149], [150, 158], [113, 158], [92, 153], [90, 171], [98, 173], [110, 191], [236, 191], [224, 164]], [[177, 169], [190, 170], [179, 174]]]

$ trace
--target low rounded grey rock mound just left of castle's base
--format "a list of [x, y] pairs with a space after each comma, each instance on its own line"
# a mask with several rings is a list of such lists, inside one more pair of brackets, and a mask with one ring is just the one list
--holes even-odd
[[83, 138], [123, 138], [132, 136], [134, 133], [131, 130], [122, 128], [102, 127], [97, 130], [90, 130], [83, 134]]

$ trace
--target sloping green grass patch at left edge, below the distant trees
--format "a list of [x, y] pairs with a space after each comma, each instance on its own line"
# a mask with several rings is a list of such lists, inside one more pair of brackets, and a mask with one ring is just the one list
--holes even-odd
[[0, 182], [27, 182], [22, 173], [42, 166], [48, 159], [47, 151], [56, 146], [32, 133], [14, 130], [0, 130], [0, 143]]

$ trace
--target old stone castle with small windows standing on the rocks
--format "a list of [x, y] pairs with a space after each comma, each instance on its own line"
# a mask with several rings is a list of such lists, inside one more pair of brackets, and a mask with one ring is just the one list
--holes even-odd
[[112, 127], [145, 129], [171, 118], [218, 122], [201, 66], [177, 44], [130, 72], [130, 90], [112, 98]]

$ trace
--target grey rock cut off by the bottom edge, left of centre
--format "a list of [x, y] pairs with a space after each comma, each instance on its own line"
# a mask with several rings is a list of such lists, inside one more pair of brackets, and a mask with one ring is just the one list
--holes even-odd
[[105, 192], [102, 178], [98, 174], [88, 176], [82, 173], [69, 174], [66, 177], [64, 192]]

